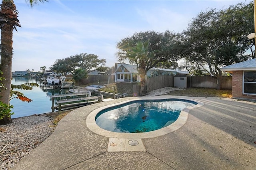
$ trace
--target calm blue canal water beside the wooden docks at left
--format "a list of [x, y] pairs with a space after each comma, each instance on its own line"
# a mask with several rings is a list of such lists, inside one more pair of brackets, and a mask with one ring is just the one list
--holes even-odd
[[[13, 77], [12, 84], [14, 85], [21, 85], [24, 83], [38, 83], [39, 81], [36, 79], [32, 79], [31, 77]], [[24, 117], [30, 116], [34, 114], [42, 114], [42, 113], [49, 113], [52, 112], [52, 100], [50, 98], [51, 95], [57, 94], [65, 94], [68, 93], [68, 89], [47, 89], [44, 90], [42, 87], [33, 87], [32, 90], [21, 90], [21, 89], [14, 89], [16, 91], [22, 92], [26, 97], [32, 99], [33, 101], [23, 102], [16, 98], [10, 101], [10, 105], [13, 105], [14, 108], [12, 112], [15, 115], [12, 115], [12, 118], [17, 117]]]

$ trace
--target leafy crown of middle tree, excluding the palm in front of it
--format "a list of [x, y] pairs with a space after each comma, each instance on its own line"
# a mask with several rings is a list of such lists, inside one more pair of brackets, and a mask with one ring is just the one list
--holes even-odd
[[154, 56], [145, 60], [146, 71], [148, 71], [159, 62], [177, 61], [181, 58], [180, 55], [177, 55], [180, 50], [178, 38], [178, 34], [170, 31], [164, 33], [154, 31], [134, 33], [132, 36], [124, 38], [117, 43], [118, 52], [116, 56], [120, 62], [128, 59], [131, 64], [137, 65], [140, 59], [134, 60], [127, 53], [131, 48], [136, 47], [138, 42], [148, 42], [148, 52], [157, 51]]

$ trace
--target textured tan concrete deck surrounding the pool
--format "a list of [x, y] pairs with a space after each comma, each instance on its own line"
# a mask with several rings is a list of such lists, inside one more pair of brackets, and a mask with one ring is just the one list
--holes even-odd
[[[138, 97], [80, 107], [66, 115], [52, 135], [14, 169], [255, 170], [256, 103], [213, 97], [164, 97], [191, 99], [204, 105], [190, 110], [186, 123], [177, 130], [138, 139], [144, 150], [119, 152], [108, 148], [131, 138], [120, 140], [125, 138], [96, 134], [86, 125], [86, 118], [100, 107]], [[112, 140], [116, 146], [110, 146]]]

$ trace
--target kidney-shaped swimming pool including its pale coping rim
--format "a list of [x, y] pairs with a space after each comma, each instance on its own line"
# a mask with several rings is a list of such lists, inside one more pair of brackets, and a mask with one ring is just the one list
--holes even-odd
[[[191, 109], [204, 103], [171, 96], [130, 97], [92, 111], [87, 127], [109, 138], [150, 138], [168, 134], [182, 127]], [[96, 105], [96, 104], [95, 104]]]

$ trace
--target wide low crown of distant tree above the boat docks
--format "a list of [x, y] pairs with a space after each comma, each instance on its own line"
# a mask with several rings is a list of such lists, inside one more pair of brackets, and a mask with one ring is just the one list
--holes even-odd
[[104, 66], [105, 63], [106, 59], [99, 59], [98, 55], [80, 53], [64, 59], [57, 59], [50, 69], [66, 75], [69, 72], [74, 74], [79, 68], [88, 72], [91, 69]]

